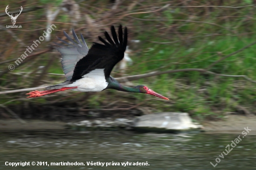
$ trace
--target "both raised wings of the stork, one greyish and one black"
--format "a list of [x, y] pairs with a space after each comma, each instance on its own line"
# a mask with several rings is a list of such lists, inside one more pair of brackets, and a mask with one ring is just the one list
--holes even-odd
[[67, 46], [57, 44], [55, 47], [59, 52], [61, 52], [62, 60], [61, 65], [63, 72], [67, 80], [74, 81], [82, 78], [82, 76], [88, 74], [95, 69], [104, 69], [105, 78], [110, 76], [113, 67], [123, 59], [124, 52], [127, 46], [127, 28], [124, 28], [124, 33], [122, 26], [119, 26], [118, 36], [115, 32], [115, 27], [110, 28], [112, 38], [109, 36], [108, 32], [105, 32], [105, 39], [99, 36], [99, 40], [104, 44], [95, 43], [88, 50], [88, 46], [81, 34], [81, 41], [78, 39], [74, 30], [72, 30], [73, 39], [71, 39], [68, 34], [64, 31], [64, 35], [72, 43], [68, 43], [60, 38], [61, 42], [65, 43]]

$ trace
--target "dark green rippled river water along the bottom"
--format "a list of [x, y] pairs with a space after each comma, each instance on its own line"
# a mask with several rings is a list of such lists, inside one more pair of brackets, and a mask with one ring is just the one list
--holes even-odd
[[[247, 135], [224, 158], [237, 134], [155, 134], [131, 132], [0, 131], [0, 169], [7, 170], [256, 170], [256, 136]], [[231, 146], [230, 146], [231, 149]], [[210, 162], [216, 164], [214, 168]], [[33, 166], [32, 162], [47, 162]], [[105, 163], [88, 166], [87, 162]], [[120, 163], [106, 166], [106, 163]], [[30, 166], [5, 163], [30, 162]], [[50, 163], [84, 163], [51, 166]], [[123, 166], [121, 163], [148, 163]]]

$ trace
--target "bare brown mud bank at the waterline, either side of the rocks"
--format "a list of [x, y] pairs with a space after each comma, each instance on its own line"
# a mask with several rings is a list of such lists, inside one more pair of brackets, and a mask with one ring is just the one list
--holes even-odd
[[[21, 123], [17, 119], [0, 120], [0, 131], [5, 130], [67, 130], [68, 123], [61, 121], [24, 120]], [[229, 115], [217, 121], [202, 122], [205, 133], [241, 133], [245, 127], [251, 129], [250, 135], [256, 135], [256, 116]]]

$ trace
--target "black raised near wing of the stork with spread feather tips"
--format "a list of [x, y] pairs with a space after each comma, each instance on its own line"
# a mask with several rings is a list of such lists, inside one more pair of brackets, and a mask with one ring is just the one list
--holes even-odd
[[111, 33], [114, 41], [105, 32], [107, 41], [99, 36], [100, 41], [104, 45], [94, 43], [87, 55], [76, 63], [71, 81], [80, 79], [95, 69], [104, 69], [105, 78], [110, 76], [113, 67], [124, 57], [127, 46], [127, 28], [124, 28], [123, 33], [122, 26], [120, 25], [117, 36], [115, 27], [111, 26]]

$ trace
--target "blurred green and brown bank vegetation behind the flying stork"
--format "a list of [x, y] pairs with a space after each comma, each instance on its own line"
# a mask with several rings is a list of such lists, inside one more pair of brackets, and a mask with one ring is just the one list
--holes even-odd
[[[55, 36], [64, 38], [63, 30], [70, 34], [74, 28], [91, 46], [103, 31], [120, 24], [128, 27], [128, 54], [133, 64], [125, 70], [114, 69], [115, 78], [200, 68], [256, 80], [256, 45], [209, 67], [256, 41], [256, 0], [6, 0], [0, 4], [1, 92], [63, 82], [61, 55], [51, 48], [58, 42]], [[7, 5], [10, 13], [23, 7], [16, 22], [22, 28], [6, 28], [11, 25], [5, 14]], [[17, 66], [14, 61], [51, 24], [57, 28], [49, 40], [41, 41]], [[15, 65], [14, 71], [9, 71], [10, 64]], [[1, 95], [0, 117], [11, 117], [5, 107], [22, 118], [60, 120], [115, 114], [128, 117], [156, 111], [188, 112], [199, 120], [256, 113], [255, 84], [241, 77], [176, 72], [124, 84], [147, 85], [170, 101], [115, 90], [58, 92], [29, 99], [26, 92], [18, 92]]]

